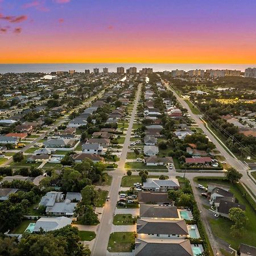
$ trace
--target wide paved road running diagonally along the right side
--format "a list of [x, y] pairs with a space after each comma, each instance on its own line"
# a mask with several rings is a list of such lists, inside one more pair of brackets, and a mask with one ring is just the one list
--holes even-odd
[[[222, 146], [222, 144], [219, 141], [217, 141], [217, 139], [207, 130], [207, 128], [204, 126], [204, 122], [201, 121], [201, 119], [200, 119], [200, 115], [193, 114], [191, 109], [189, 108], [187, 102], [185, 102], [182, 98], [180, 98], [179, 95], [175, 92], [175, 90], [173, 90], [167, 82], [164, 82], [163, 80], [162, 80], [162, 82], [164, 85], [166, 85], [166, 88], [168, 90], [171, 90], [174, 93], [174, 95], [176, 96], [176, 98], [180, 102], [180, 104], [183, 105], [183, 107], [188, 110], [188, 113], [195, 120], [197, 125], [204, 131], [204, 133], [208, 136], [210, 141], [212, 141], [216, 145], [217, 150], [220, 151], [221, 154], [225, 157], [226, 162], [229, 163], [230, 166], [236, 168], [236, 170], [241, 172], [241, 174], [243, 175], [243, 177], [241, 179], [242, 183], [244, 183], [248, 188], [250, 188], [250, 191], [253, 192], [255, 195], [256, 194], [256, 185], [253, 183], [253, 181], [247, 175], [247, 170], [249, 169], [249, 167], [242, 161], [231, 156], [225, 150], [224, 146]], [[250, 191], [246, 187], [245, 187], [245, 189], [251, 195]], [[251, 195], [251, 197], [253, 198], [253, 195]]]

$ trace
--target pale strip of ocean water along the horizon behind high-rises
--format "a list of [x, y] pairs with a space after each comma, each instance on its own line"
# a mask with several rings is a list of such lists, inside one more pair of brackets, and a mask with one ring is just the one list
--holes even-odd
[[52, 71], [69, 71], [75, 69], [77, 72], [84, 72], [85, 69], [93, 68], [109, 68], [109, 72], [116, 72], [117, 67], [137, 67], [137, 71], [142, 68], [153, 68], [153, 71], [171, 71], [174, 69], [183, 69], [189, 71], [191, 69], [237, 69], [242, 72], [246, 68], [256, 67], [256, 64], [154, 64], [154, 63], [70, 63], [70, 64], [0, 64], [0, 73], [24, 73], [24, 72], [44, 72]]

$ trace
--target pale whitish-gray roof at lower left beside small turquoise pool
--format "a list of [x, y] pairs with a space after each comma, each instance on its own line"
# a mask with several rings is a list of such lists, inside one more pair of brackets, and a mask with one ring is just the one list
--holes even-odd
[[67, 217], [57, 217], [57, 218], [39, 218], [38, 221], [36, 221], [34, 232], [39, 232], [40, 228], [42, 228], [45, 232], [61, 229], [64, 228], [64, 226], [71, 225], [72, 219]]

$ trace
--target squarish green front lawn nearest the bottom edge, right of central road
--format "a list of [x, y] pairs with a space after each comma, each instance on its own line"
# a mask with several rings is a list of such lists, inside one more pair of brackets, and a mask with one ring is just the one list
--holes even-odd
[[133, 232], [114, 232], [110, 234], [108, 251], [110, 253], [131, 252], [131, 245], [135, 242]]

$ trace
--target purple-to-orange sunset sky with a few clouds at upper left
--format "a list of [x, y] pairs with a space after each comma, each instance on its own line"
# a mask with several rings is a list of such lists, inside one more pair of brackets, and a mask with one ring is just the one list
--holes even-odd
[[256, 64], [255, 0], [0, 0], [0, 63]]

